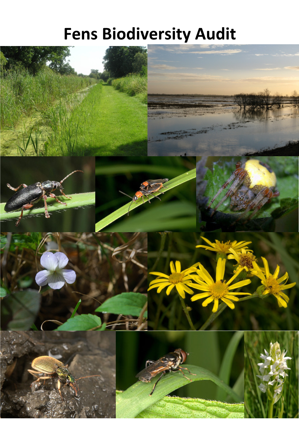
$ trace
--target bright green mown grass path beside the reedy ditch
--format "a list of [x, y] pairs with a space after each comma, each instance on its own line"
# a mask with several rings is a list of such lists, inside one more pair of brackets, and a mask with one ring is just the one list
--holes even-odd
[[147, 105], [140, 99], [96, 85], [80, 106], [85, 130], [78, 144], [91, 156], [147, 156]]

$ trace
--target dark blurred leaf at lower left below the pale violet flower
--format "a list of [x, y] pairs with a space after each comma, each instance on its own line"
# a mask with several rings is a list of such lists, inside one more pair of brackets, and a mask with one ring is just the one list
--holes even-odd
[[1, 302], [1, 329], [28, 330], [34, 323], [41, 295], [34, 289], [14, 292]]

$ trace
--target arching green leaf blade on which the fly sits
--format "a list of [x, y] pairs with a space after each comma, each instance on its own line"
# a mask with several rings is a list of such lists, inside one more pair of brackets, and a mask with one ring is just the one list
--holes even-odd
[[[192, 365], [188, 365], [187, 368], [191, 373], [195, 373], [195, 376], [189, 376], [188, 372], [184, 371], [188, 377], [192, 378], [192, 382], [186, 379], [182, 374], [168, 373], [159, 381], [152, 396], [149, 396], [149, 394], [159, 376], [152, 379], [150, 383], [139, 381], [130, 386], [126, 391], [119, 393], [116, 397], [116, 418], [134, 418], [170, 392], [187, 385], [187, 383], [194, 383], [200, 380], [211, 380], [216, 385], [222, 387], [234, 401], [241, 402], [241, 398], [210, 371]], [[138, 398], [138, 401], [136, 401], [136, 398]], [[186, 415], [184, 417], [186, 417]]]

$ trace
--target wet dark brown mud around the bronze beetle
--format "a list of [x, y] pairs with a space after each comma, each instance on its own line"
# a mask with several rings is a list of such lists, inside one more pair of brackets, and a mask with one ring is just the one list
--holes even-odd
[[[8, 331], [1, 336], [2, 418], [115, 418], [115, 332]], [[76, 396], [58, 378], [34, 382], [31, 362], [58, 355], [80, 379]], [[61, 357], [61, 358], [60, 358]], [[31, 388], [30, 388], [31, 385]]]

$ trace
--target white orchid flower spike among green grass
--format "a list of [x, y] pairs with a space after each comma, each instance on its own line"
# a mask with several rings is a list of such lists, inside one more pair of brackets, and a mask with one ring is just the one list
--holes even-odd
[[257, 376], [263, 381], [258, 387], [262, 392], [267, 392], [269, 400], [275, 404], [283, 393], [285, 377], [288, 376], [285, 370], [290, 370], [286, 360], [291, 360], [291, 357], [285, 357], [287, 351], [281, 353], [278, 342], [270, 342], [270, 352], [265, 349], [265, 353], [260, 356], [264, 362], [258, 363], [262, 376]]

